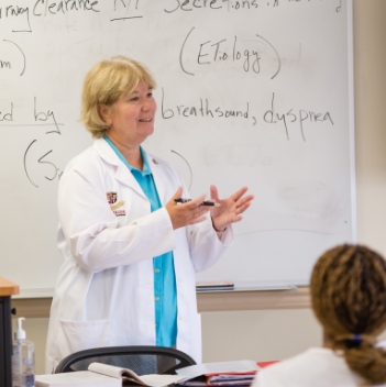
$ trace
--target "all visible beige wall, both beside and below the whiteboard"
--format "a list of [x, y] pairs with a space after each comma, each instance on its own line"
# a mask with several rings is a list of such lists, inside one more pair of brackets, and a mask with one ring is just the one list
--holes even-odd
[[[354, 0], [354, 71], [359, 242], [386, 256], [385, 0]], [[24, 324], [36, 344], [38, 374], [47, 323], [34, 318]], [[280, 360], [321, 343], [309, 309], [203, 312], [202, 336], [205, 362]]]

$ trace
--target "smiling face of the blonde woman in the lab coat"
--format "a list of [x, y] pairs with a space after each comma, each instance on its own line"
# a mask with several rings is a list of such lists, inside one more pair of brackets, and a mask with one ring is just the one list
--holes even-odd
[[112, 107], [101, 107], [102, 117], [110, 125], [109, 137], [125, 144], [142, 144], [154, 132], [156, 109], [153, 90], [143, 82], [139, 84], [134, 91], [121, 96]]

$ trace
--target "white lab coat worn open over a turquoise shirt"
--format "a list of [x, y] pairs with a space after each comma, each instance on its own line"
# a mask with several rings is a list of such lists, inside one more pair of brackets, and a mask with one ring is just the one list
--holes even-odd
[[[159, 200], [184, 183], [147, 154]], [[114, 200], [108, 202], [107, 195]], [[184, 196], [188, 192], [184, 189]], [[195, 272], [213, 265], [233, 241], [220, 242], [209, 215], [173, 230], [165, 208], [151, 204], [110, 145], [96, 140], [67, 165], [58, 192], [58, 248], [64, 256], [48, 325], [46, 372], [68, 354], [98, 346], [155, 345], [153, 257], [174, 252], [177, 349], [201, 361]]]

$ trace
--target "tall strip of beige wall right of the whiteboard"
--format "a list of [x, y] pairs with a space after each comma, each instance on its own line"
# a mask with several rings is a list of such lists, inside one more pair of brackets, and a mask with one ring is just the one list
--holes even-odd
[[386, 255], [386, 1], [354, 1], [359, 242]]

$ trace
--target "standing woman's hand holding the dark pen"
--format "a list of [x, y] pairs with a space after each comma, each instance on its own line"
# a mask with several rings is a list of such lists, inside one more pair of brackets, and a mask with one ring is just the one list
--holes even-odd
[[206, 220], [205, 214], [210, 210], [210, 207], [200, 206], [205, 200], [205, 195], [199, 196], [197, 199], [191, 199], [186, 203], [177, 203], [175, 200], [179, 199], [181, 195], [183, 187], [178, 187], [177, 192], [165, 206], [172, 220], [173, 230], [202, 222]]

